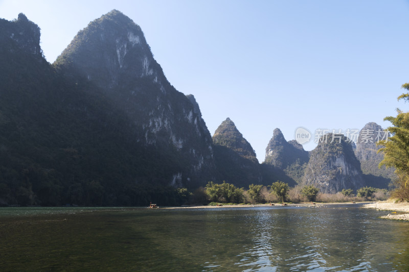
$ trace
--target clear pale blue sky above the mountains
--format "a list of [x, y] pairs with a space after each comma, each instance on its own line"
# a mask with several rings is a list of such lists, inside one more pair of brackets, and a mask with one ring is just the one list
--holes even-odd
[[346, 132], [386, 116], [409, 82], [409, 1], [20, 1], [0, 0], [0, 18], [22, 12], [41, 28], [51, 63], [77, 32], [117, 9], [142, 28], [156, 61], [193, 94], [213, 135], [230, 117], [260, 162], [275, 128]]

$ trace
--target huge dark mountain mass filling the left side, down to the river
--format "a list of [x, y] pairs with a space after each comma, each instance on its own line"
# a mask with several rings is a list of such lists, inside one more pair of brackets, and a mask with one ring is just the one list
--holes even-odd
[[39, 28], [0, 20], [0, 203], [176, 204], [174, 189], [214, 175], [212, 139], [141, 29], [112, 11], [54, 65]]

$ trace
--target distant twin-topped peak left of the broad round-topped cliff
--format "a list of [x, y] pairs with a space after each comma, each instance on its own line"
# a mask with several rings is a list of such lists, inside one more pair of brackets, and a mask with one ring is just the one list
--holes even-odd
[[286, 141], [280, 129], [275, 129], [265, 150], [264, 164], [283, 170], [294, 181], [300, 182], [308, 152], [296, 140]]

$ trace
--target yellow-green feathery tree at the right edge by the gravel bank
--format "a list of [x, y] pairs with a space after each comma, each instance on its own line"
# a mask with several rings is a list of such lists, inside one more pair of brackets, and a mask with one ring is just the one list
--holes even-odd
[[[402, 85], [402, 88], [409, 91], [409, 83]], [[398, 97], [399, 100], [409, 102], [409, 92], [402, 93]], [[403, 112], [397, 109], [396, 117], [388, 116], [384, 120], [392, 123], [393, 127], [389, 127], [388, 131], [391, 137], [383, 139], [377, 144], [383, 147], [378, 152], [383, 152], [383, 160], [379, 163], [379, 167], [394, 167], [398, 175], [398, 181], [395, 183], [397, 188], [393, 195], [399, 199], [409, 201], [409, 112]]]

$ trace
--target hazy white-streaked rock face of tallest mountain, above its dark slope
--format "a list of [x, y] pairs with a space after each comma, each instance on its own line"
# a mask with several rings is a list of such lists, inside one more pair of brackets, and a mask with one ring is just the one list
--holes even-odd
[[135, 141], [168, 156], [174, 165], [169, 184], [202, 185], [211, 178], [212, 139], [198, 104], [167, 81], [141, 28], [127, 16], [113, 10], [90, 22], [55, 65], [97, 85], [126, 112], [138, 127]]

